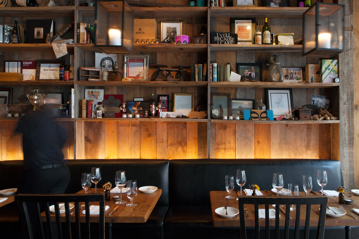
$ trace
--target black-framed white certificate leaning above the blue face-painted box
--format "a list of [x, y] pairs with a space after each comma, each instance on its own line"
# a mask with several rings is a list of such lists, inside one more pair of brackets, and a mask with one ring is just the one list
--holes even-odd
[[291, 88], [266, 88], [267, 109], [273, 110], [274, 118], [285, 115], [293, 109]]

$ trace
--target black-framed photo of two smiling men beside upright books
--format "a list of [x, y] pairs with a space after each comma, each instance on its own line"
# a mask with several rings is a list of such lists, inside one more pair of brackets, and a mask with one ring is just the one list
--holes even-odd
[[237, 74], [241, 81], [263, 81], [262, 63], [237, 63]]

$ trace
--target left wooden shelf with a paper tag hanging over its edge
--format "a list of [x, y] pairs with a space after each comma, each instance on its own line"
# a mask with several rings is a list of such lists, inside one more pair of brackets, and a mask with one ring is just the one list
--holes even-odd
[[[50, 7], [49, 7], [50, 8]], [[74, 44], [67, 44], [67, 51], [73, 51]], [[0, 44], [1, 52], [39, 52], [39, 51], [53, 51], [52, 44]]]

